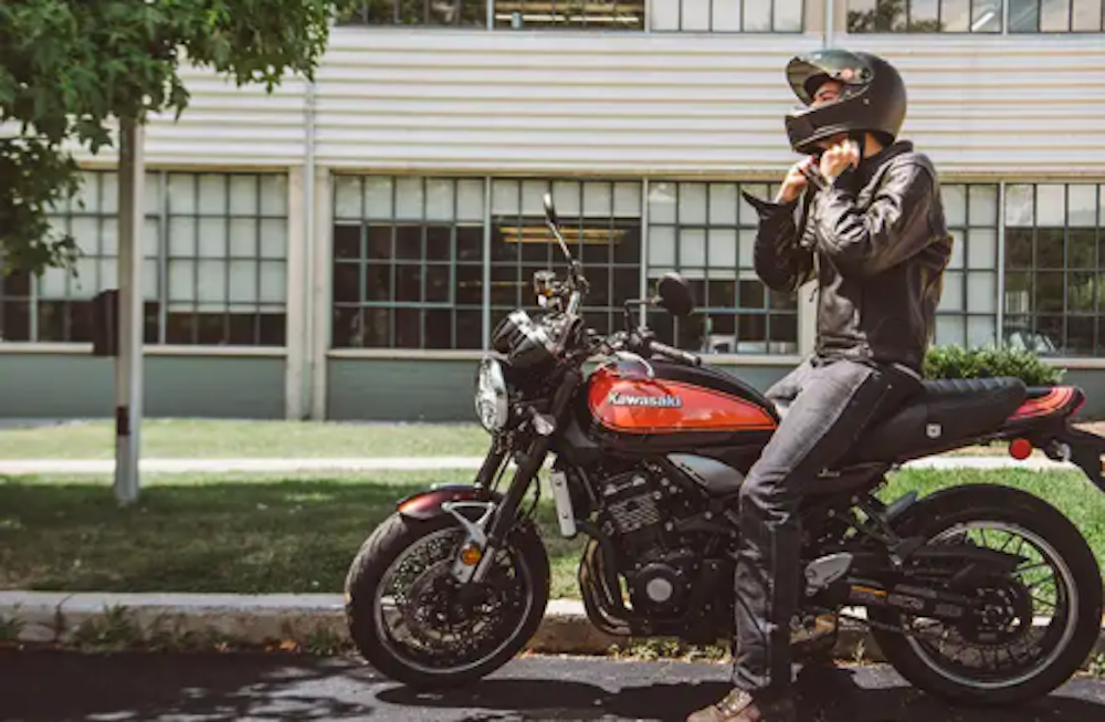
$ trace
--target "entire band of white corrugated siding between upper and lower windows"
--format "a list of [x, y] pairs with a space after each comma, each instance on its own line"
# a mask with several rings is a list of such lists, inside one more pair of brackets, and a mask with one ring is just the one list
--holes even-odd
[[[944, 172], [1099, 176], [1099, 35], [839, 35], [906, 76], [905, 134]], [[806, 35], [335, 29], [318, 72], [322, 166], [471, 172], [772, 175], [793, 155], [782, 69]], [[287, 166], [305, 157], [305, 84], [266, 95], [208, 71], [155, 118], [151, 165]], [[82, 154], [81, 158], [88, 160]], [[96, 160], [114, 163], [114, 154]]]

